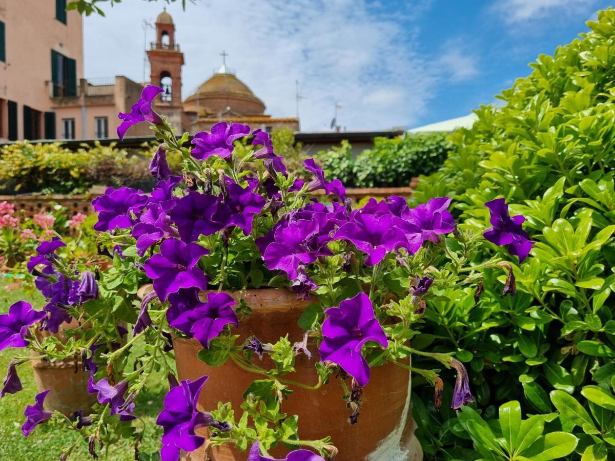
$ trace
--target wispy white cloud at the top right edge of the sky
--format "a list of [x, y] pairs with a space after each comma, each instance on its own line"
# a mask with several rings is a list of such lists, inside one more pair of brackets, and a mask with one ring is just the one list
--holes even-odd
[[[506, 23], [523, 23], [536, 19], [550, 17], [571, 17], [587, 12], [595, 0], [497, 0], [494, 10]], [[549, 26], [557, 26], [552, 23]]]

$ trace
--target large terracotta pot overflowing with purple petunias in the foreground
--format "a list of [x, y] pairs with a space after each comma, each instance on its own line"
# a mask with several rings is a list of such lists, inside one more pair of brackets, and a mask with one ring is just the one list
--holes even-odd
[[[514, 290], [510, 265], [469, 265], [484, 238], [456, 226], [447, 197], [353, 208], [313, 159], [302, 178], [289, 173], [260, 129], [220, 122], [178, 137], [151, 107], [161, 92], [145, 87], [117, 129], [123, 138], [151, 124], [161, 143], [150, 165], [158, 183], [147, 194], [109, 188], [93, 201], [98, 248], [113, 266], [85, 277], [88, 268], [60, 243], [39, 248], [30, 269], [44, 309], [21, 302], [0, 316], [2, 349], [79, 357], [97, 399], [89, 415], [71, 418], [45, 409], [41, 392], [25, 410], [24, 434], [41, 423], [78, 431], [63, 459], [80, 441], [94, 456], [133, 438], [138, 452], [140, 395], [165, 377], [164, 461], [422, 459], [411, 373], [434, 386], [436, 406], [440, 369], [456, 373], [453, 408], [473, 399], [453, 352], [423, 347], [421, 318], [446, 286], [480, 293], [485, 269], [503, 270]], [[248, 149], [234, 147], [242, 138]], [[169, 168], [170, 150], [183, 157], [181, 174]], [[327, 202], [312, 198], [320, 190]], [[525, 258], [533, 242], [497, 205], [485, 237]], [[71, 319], [79, 322], [66, 344], [34, 334]], [[2, 395], [20, 390], [17, 367], [30, 358], [17, 354]]]

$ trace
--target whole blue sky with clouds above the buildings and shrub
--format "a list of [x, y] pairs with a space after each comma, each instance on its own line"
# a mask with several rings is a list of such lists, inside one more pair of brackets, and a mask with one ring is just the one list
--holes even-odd
[[[219, 53], [267, 105], [327, 130], [339, 101], [348, 130], [417, 127], [469, 114], [526, 76], [540, 53], [586, 31], [603, 0], [196, 0], [168, 7], [185, 53], [182, 97]], [[144, 19], [164, 2], [122, 2], [84, 20], [85, 76], [141, 81]], [[121, 31], [121, 33], [117, 33]], [[153, 41], [148, 31], [147, 41]], [[149, 70], [147, 71], [149, 73]]]

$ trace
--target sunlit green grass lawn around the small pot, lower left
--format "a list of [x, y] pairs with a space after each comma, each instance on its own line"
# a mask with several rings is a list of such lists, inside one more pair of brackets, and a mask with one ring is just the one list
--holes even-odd
[[[42, 308], [41, 294], [34, 290], [18, 289], [7, 291], [6, 279], [0, 279], [0, 313], [6, 313], [9, 306], [15, 301], [23, 299], [30, 302], [36, 309]], [[135, 347], [143, 347], [143, 344], [135, 344]], [[0, 382], [6, 377], [6, 369], [15, 349], [9, 348], [0, 352]], [[54, 427], [39, 425], [28, 438], [22, 434], [22, 424], [25, 420], [23, 410], [28, 404], [34, 404], [34, 395], [39, 392], [34, 383], [32, 368], [29, 364], [23, 364], [18, 368], [22, 380], [23, 390], [16, 394], [7, 394], [0, 400], [0, 460], [27, 460], [27, 461], [51, 461], [60, 457], [63, 448], [73, 444], [76, 433], [64, 433]], [[149, 388], [142, 392], [136, 401], [135, 416], [146, 422], [145, 436], [140, 445], [141, 451], [154, 452], [159, 449], [161, 428], [156, 426], [156, 417], [162, 408], [162, 399], [167, 392], [167, 380], [160, 377], [152, 377]], [[142, 424], [139, 419], [133, 423], [137, 427]], [[100, 454], [100, 459], [105, 458], [105, 451]], [[87, 444], [79, 443], [73, 450], [69, 460], [92, 459], [87, 452]], [[127, 441], [114, 444], [109, 447], [108, 459], [114, 461], [128, 461], [134, 459], [134, 449]]]

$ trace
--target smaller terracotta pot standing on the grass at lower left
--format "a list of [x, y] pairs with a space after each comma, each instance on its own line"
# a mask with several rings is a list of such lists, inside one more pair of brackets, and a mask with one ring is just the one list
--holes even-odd
[[[79, 324], [76, 320], [70, 323], [63, 323], [58, 329], [58, 333], [49, 331], [36, 331], [39, 341], [47, 336], [55, 336], [63, 344], [67, 339], [63, 337], [63, 332], [69, 328], [76, 328]], [[34, 354], [34, 352], [33, 352]], [[81, 359], [77, 359], [77, 372], [75, 372], [75, 361], [57, 360], [32, 360], [34, 369], [34, 381], [39, 392], [50, 389], [51, 392], [45, 399], [45, 408], [50, 411], [59, 411], [66, 416], [71, 416], [73, 412], [83, 410], [89, 413], [92, 405], [96, 403], [96, 395], [87, 392], [87, 381], [90, 373], [82, 371]]]

